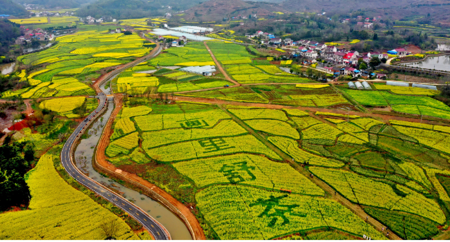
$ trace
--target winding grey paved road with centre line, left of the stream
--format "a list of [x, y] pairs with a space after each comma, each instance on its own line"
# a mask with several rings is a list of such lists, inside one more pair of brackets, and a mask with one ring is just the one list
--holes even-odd
[[[156, 50], [155, 53], [150, 54], [148, 57], [151, 58], [155, 56], [156, 54], [159, 54], [160, 48], [158, 46], [158, 50]], [[142, 61], [145, 61], [145, 59], [140, 59], [139, 61], [136, 61], [134, 63], [140, 63]], [[124, 68], [129, 68], [131, 65], [127, 65]], [[123, 70], [124, 68], [120, 68]], [[118, 70], [120, 72], [121, 70]], [[113, 77], [113, 75], [110, 75], [110, 77]], [[108, 78], [109, 79], [109, 78]], [[104, 79], [106, 80], [106, 79]], [[77, 143], [77, 139], [83, 134], [83, 132], [88, 128], [88, 126], [94, 121], [97, 116], [100, 116], [100, 113], [102, 113], [104, 110], [106, 110], [106, 95], [103, 92], [100, 92], [97, 96], [97, 99], [99, 99], [100, 104], [98, 105], [97, 109], [95, 109], [91, 114], [80, 123], [77, 128], [73, 131], [71, 136], [67, 139], [66, 143], [64, 143], [64, 147], [62, 148], [61, 152], [61, 163], [66, 169], [66, 172], [73, 177], [76, 181], [84, 185], [86, 188], [92, 190], [93, 192], [99, 194], [100, 196], [103, 196], [104, 199], [110, 201], [114, 205], [118, 206], [118, 208], [121, 208], [125, 212], [127, 212], [129, 215], [133, 216], [134, 219], [139, 221], [145, 229], [147, 229], [151, 234], [153, 234], [153, 237], [158, 240], [167, 240], [171, 239], [169, 232], [162, 226], [158, 221], [153, 219], [149, 214], [144, 212], [142, 209], [140, 209], [138, 206], [134, 205], [130, 201], [124, 199], [119, 194], [116, 194], [115, 192], [109, 190], [104, 185], [97, 183], [97, 181], [94, 181], [93, 179], [87, 177], [85, 174], [83, 174], [80, 170], [78, 170], [77, 166], [73, 163], [73, 149], [75, 148], [75, 145]]]

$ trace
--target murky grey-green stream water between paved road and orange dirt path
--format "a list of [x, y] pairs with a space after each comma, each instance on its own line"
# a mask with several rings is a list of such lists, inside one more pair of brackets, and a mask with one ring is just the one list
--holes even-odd
[[[109, 93], [109, 90], [106, 90]], [[105, 92], [105, 94], [106, 94]], [[93, 123], [92, 127], [88, 130], [88, 139], [82, 139], [77, 149], [75, 150], [75, 165], [77, 168], [84, 172], [84, 174], [91, 177], [95, 181], [102, 183], [107, 188], [118, 192], [124, 196], [124, 198], [128, 199], [138, 207], [142, 208], [142, 210], [146, 211], [150, 216], [156, 219], [159, 223], [165, 226], [165, 228], [169, 231], [172, 239], [177, 240], [191, 240], [191, 234], [187, 229], [185, 223], [181, 221], [173, 212], [167, 209], [164, 205], [158, 203], [158, 201], [154, 201], [149, 196], [145, 196], [136, 192], [135, 190], [131, 190], [129, 188], [120, 185], [119, 183], [109, 179], [107, 177], [103, 177], [101, 174], [96, 172], [92, 167], [92, 159], [95, 150], [95, 146], [97, 145], [100, 136], [102, 135], [102, 130], [104, 125], [106, 125], [106, 121], [108, 121], [111, 116], [111, 112], [113, 112], [114, 104], [112, 101], [108, 103], [108, 109], [103, 114], [102, 117], [97, 119], [95, 123]]]

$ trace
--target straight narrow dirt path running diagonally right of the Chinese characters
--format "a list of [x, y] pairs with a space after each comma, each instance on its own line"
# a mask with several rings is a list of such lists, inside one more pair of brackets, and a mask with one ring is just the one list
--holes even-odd
[[[321, 181], [317, 177], [311, 177], [310, 176], [311, 173], [308, 172], [307, 170], [305, 170], [305, 168], [303, 168], [299, 163], [292, 161], [292, 159], [287, 154], [285, 154], [284, 152], [279, 150], [279, 148], [276, 148], [276, 146], [274, 146], [272, 143], [270, 143], [269, 141], [267, 141], [263, 137], [261, 137], [261, 135], [259, 135], [256, 131], [254, 131], [252, 128], [250, 128], [245, 122], [243, 122], [241, 119], [238, 119], [236, 116], [234, 116], [234, 114], [228, 112], [225, 108], [223, 108], [222, 105], [219, 105], [219, 107], [224, 112], [226, 112], [230, 117], [232, 117], [232, 119], [234, 121], [236, 121], [236, 123], [239, 123], [239, 125], [241, 125], [243, 128], [245, 128], [245, 130], [247, 130], [248, 132], [250, 132], [250, 134], [252, 134], [254, 137], [256, 137], [256, 139], [259, 139], [259, 141], [261, 141], [262, 143], [267, 145], [268, 148], [270, 148], [271, 150], [276, 152], [276, 154], [278, 154], [281, 158], [283, 158], [286, 163], [290, 163], [290, 165], [295, 170], [297, 170], [298, 172], [303, 174], [305, 177], [310, 179], [310, 181], [312, 181], [316, 185], [319, 185], [320, 188], [322, 188], [323, 190], [328, 192], [328, 194], [331, 195], [331, 199], [338, 201], [342, 205], [346, 206], [348, 209], [352, 210], [353, 213], [357, 214], [357, 216], [361, 217], [363, 220], [366, 220], [367, 223], [371, 223], [371, 225], [373, 225], [373, 227], [375, 227], [375, 229], [377, 229], [378, 231], [381, 232], [382, 228], [386, 228], [385, 225], [383, 225], [382, 223], [379, 223], [379, 221], [373, 219], [371, 216], [368, 216], [368, 214], [366, 214], [366, 212], [364, 212], [364, 210], [359, 205], [356, 205], [356, 204], [348, 201], [348, 199], [346, 199], [344, 196], [337, 194], [337, 192], [335, 192], [335, 190], [332, 189], [330, 187], [330, 185], [328, 185], [324, 181]], [[371, 236], [371, 235], [368, 234], [368, 236]], [[389, 233], [388, 238], [401, 240], [401, 238], [399, 236], [397, 236], [397, 234], [394, 234], [393, 232]]]

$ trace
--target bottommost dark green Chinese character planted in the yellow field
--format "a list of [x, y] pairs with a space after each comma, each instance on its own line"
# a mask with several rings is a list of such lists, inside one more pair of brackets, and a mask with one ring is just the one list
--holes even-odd
[[279, 218], [283, 219], [283, 223], [281, 225], [286, 225], [289, 223], [289, 219], [285, 216], [286, 213], [289, 213], [290, 216], [306, 216], [306, 214], [295, 214], [293, 213], [293, 209], [299, 207], [297, 204], [285, 205], [280, 204], [280, 200], [288, 196], [287, 194], [275, 197], [270, 195], [269, 199], [258, 199], [255, 203], [250, 204], [250, 207], [254, 205], [263, 205], [265, 206], [265, 210], [259, 214], [259, 217], [267, 216], [268, 218], [273, 217], [272, 221], [268, 224], [270, 228], [272, 228], [276, 221]]

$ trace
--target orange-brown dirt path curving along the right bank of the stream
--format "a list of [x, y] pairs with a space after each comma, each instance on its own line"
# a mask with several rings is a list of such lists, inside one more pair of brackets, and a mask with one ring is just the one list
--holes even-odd
[[165, 199], [168, 203], [174, 205], [174, 207], [178, 211], [180, 211], [180, 213], [183, 216], [185, 216], [187, 221], [189, 221], [189, 225], [192, 228], [192, 232], [194, 232], [194, 234], [191, 234], [191, 236], [193, 236], [193, 239], [205, 240], [206, 239], [205, 234], [203, 233], [203, 229], [201, 228], [200, 223], [198, 223], [196, 216], [194, 216], [194, 214], [191, 213], [191, 210], [189, 210], [189, 208], [187, 208], [184, 204], [180, 203], [180, 201], [171, 196], [171, 194], [167, 193], [165, 190], [158, 188], [158, 186], [154, 185], [153, 183], [150, 183], [149, 181], [146, 181], [138, 177], [138, 175], [136, 174], [119, 170], [113, 164], [106, 161], [105, 150], [106, 147], [108, 147], [109, 145], [109, 137], [111, 136], [111, 127], [113, 125], [115, 117], [117, 117], [122, 108], [123, 97], [124, 96], [122, 94], [114, 95], [115, 108], [111, 113], [111, 117], [109, 118], [108, 122], [104, 127], [102, 137], [100, 138], [100, 141], [98, 143], [97, 150], [95, 152], [95, 163], [101, 166], [102, 168], [109, 170], [109, 172], [111, 173], [119, 174], [121, 179], [126, 182], [129, 182], [131, 184], [140, 183], [140, 185], [144, 185], [146, 188], [162, 196], [162, 198]]

